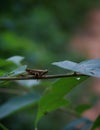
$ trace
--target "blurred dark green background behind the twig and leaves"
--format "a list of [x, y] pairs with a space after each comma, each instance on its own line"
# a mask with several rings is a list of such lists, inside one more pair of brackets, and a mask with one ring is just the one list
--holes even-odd
[[[49, 69], [53, 74], [63, 72], [52, 67], [51, 63], [77, 59], [70, 53], [69, 41], [81, 26], [87, 11], [99, 4], [100, 0], [0, 1], [0, 58], [20, 55], [31, 68]], [[16, 83], [2, 87], [42, 94], [50, 82], [31, 88]], [[0, 103], [17, 94], [0, 92]], [[37, 105], [30, 106], [0, 122], [9, 130], [34, 130], [36, 111]], [[51, 112], [39, 122], [39, 130], [60, 130], [69, 116], [60, 110]]]

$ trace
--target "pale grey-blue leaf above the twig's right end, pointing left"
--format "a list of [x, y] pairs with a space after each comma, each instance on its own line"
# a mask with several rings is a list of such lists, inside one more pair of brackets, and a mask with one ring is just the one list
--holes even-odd
[[100, 78], [100, 59], [86, 60], [81, 63], [66, 60], [52, 64], [81, 74]]

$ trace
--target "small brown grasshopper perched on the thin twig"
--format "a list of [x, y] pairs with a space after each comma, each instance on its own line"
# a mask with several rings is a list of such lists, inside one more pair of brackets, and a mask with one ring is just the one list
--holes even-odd
[[48, 72], [48, 70], [38, 70], [38, 69], [27, 68], [26, 72], [28, 72], [29, 75], [34, 75], [35, 77], [42, 77]]

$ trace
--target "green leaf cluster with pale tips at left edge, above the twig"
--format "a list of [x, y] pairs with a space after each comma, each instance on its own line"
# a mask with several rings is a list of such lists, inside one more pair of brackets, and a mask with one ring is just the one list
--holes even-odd
[[[6, 60], [0, 59], [0, 76], [8, 76], [12, 73], [14, 74], [13, 76], [15, 76], [17, 73], [22, 73], [23, 71], [25, 72], [27, 66], [21, 66], [21, 61], [23, 59], [24, 57], [21, 56], [13, 56]], [[20, 67], [18, 68], [19, 65]]]

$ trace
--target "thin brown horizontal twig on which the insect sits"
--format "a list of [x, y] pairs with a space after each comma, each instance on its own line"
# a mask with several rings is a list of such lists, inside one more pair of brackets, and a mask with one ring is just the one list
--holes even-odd
[[53, 78], [66, 78], [66, 77], [80, 77], [86, 76], [84, 74], [58, 74], [58, 75], [43, 75], [43, 76], [35, 76], [35, 75], [27, 75], [27, 76], [18, 76], [18, 77], [0, 77], [0, 80], [32, 80], [32, 79], [53, 79]]

